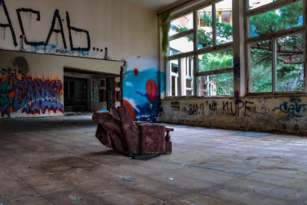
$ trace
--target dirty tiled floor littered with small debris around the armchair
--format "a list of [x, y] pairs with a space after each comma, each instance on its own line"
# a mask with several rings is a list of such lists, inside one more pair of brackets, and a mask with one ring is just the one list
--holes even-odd
[[167, 127], [173, 153], [142, 161], [100, 144], [91, 116], [2, 119], [0, 204], [307, 204], [307, 138]]

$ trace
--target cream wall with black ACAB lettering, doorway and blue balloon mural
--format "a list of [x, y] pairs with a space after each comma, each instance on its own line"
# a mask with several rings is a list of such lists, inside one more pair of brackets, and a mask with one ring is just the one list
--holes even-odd
[[[5, 86], [3, 83], [7, 76], [13, 78], [15, 75], [21, 81], [32, 77], [32, 80], [44, 79], [62, 84], [63, 66], [80, 69], [79, 63], [68, 60], [70, 64], [65, 64], [72, 56], [119, 60], [125, 62], [126, 69], [124, 104], [134, 111], [135, 120], [158, 119], [160, 93], [157, 90], [161, 85], [161, 92], [164, 91], [164, 83], [160, 83], [164, 82], [160, 81], [164, 73], [159, 71], [159, 31], [155, 11], [118, 0], [0, 0], [0, 3], [0, 24], [4, 25], [1, 27], [0, 49], [19, 51], [13, 56], [9, 52], [7, 62], [2, 63], [0, 86]], [[52, 64], [38, 53], [52, 54], [55, 57], [50, 60]], [[29, 63], [27, 73], [19, 70], [14, 73], [15, 68], [12, 69], [12, 63], [8, 61], [17, 56]], [[63, 63], [54, 64], [55, 61]], [[119, 74], [118, 70], [110, 71], [99, 64], [96, 67], [84, 66], [84, 69]], [[10, 86], [13, 86], [12, 82]], [[1, 90], [0, 94], [6, 93]], [[57, 98], [61, 102], [61, 94]], [[11, 107], [14, 102], [10, 103], [10, 115], [3, 114], [8, 107], [0, 103], [0, 117], [30, 116], [13, 115]], [[38, 116], [45, 115], [54, 113]]]

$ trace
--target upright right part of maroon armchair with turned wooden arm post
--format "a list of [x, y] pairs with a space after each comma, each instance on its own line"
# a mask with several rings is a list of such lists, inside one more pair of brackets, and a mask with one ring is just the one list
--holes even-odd
[[158, 123], [137, 125], [133, 122], [126, 106], [117, 107], [117, 111], [127, 150], [131, 155], [172, 152], [169, 137], [169, 131], [173, 131], [172, 128], [165, 128], [163, 124]]

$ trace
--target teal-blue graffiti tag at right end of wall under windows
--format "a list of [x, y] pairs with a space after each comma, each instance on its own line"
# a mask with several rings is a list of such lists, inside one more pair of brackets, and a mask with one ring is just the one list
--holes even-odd
[[[307, 104], [301, 103], [301, 99], [291, 98], [289, 102], [282, 103], [275, 110], [280, 110], [283, 113], [288, 113], [287, 118], [289, 117], [302, 117], [302, 113], [307, 111]], [[304, 115], [305, 116], [305, 115]]]

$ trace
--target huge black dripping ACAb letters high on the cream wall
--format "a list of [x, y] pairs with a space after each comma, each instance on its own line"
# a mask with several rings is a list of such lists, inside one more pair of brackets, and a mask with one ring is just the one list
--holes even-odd
[[[20, 46], [20, 50], [27, 51], [27, 50], [24, 49], [23, 41], [24, 41], [25, 45], [29, 45], [31, 47], [32, 52], [33, 51], [36, 52], [37, 49], [39, 48], [39, 46], [41, 46], [41, 49], [44, 50], [45, 53], [48, 53], [47, 52], [47, 45], [49, 47], [51, 47], [52, 49], [54, 49], [53, 52], [56, 53], [56, 54], [73, 55], [74, 51], [77, 51], [78, 56], [80, 56], [81, 52], [87, 53], [90, 50], [91, 40], [90, 40], [89, 32], [87, 30], [80, 29], [80, 28], [72, 26], [71, 23], [70, 23], [69, 13], [67, 11], [66, 11], [66, 26], [67, 26], [67, 30], [68, 30], [70, 50], [67, 49], [68, 46], [67, 46], [65, 35], [64, 35], [64, 25], [62, 24], [62, 21], [64, 21], [64, 20], [62, 20], [62, 18], [60, 16], [60, 12], [59, 12], [58, 9], [56, 9], [54, 11], [53, 17], [51, 18], [51, 26], [50, 26], [49, 33], [48, 33], [47, 37], [45, 39], [40, 39], [39, 41], [30, 40], [30, 39], [37, 39], [37, 38], [36, 38], [36, 36], [33, 36], [33, 35], [35, 35], [35, 33], [31, 34], [31, 32], [29, 32], [29, 31], [31, 30], [32, 16], [36, 17], [36, 18], [34, 18], [36, 20], [36, 22], [41, 21], [40, 11], [33, 10], [33, 9], [30, 9], [30, 8], [17, 8], [16, 12], [17, 12], [19, 28], [20, 28], [21, 33], [22, 33], [22, 35], [20, 35], [21, 40], [19, 42], [20, 44], [22, 44], [22, 46]], [[16, 47], [18, 45], [16, 34], [15, 34], [16, 28], [14, 29], [14, 26], [13, 26], [11, 19], [10, 19], [9, 11], [6, 7], [6, 3], [5, 3], [4, 0], [0, 0], [0, 13], [3, 13], [4, 16], [6, 17], [6, 19], [2, 19], [2, 22], [0, 22], [1, 30], [3, 29], [3, 32], [5, 32], [5, 28], [10, 28], [10, 32], [11, 32], [11, 35], [12, 35], [12, 38], [13, 38], [12, 39], [13, 44]], [[24, 15], [24, 17], [22, 16], [22, 14]], [[25, 18], [28, 18], [29, 20], [25, 21]], [[25, 28], [27, 28], [28, 30], [26, 30]], [[49, 40], [50, 40], [52, 34], [55, 35], [56, 46], [49, 45]], [[75, 34], [75, 36], [73, 36], [73, 34]], [[82, 34], [85, 34], [85, 36], [86, 36], [86, 43], [79, 43], [78, 44], [77, 41], [73, 41], [74, 39], [76, 39], [77, 35], [79, 35], [80, 39], [81, 39]], [[60, 48], [56, 49], [56, 47], [58, 46], [58, 42], [59, 42], [59, 35], [62, 38], [62, 42], [61, 42], [61, 45], [63, 45], [62, 49], [60, 49]], [[5, 33], [3, 35], [1, 35], [1, 37], [3, 38], [3, 40], [5, 40]], [[12, 40], [10, 40], [10, 41], [12, 41]], [[102, 49], [100, 49], [100, 52], [102, 52]], [[85, 55], [85, 54], [83, 54], [83, 55]]]

